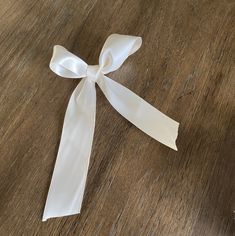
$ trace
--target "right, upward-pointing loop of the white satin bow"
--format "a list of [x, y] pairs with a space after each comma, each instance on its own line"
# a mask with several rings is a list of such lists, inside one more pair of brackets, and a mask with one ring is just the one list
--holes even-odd
[[101, 50], [99, 64], [107, 74], [117, 70], [123, 62], [141, 46], [141, 37], [111, 34]]

